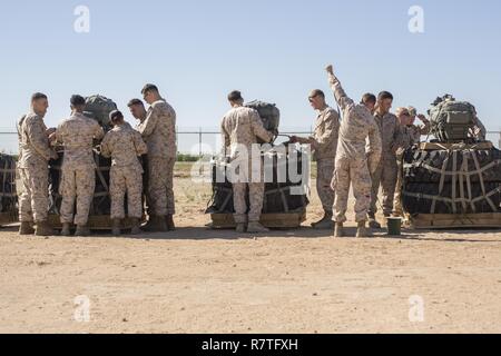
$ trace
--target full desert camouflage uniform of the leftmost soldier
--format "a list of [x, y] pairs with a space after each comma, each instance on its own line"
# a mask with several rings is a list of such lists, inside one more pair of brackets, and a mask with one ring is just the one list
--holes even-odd
[[53, 155], [43, 119], [30, 112], [18, 121], [21, 222], [46, 221], [49, 209], [49, 159]]

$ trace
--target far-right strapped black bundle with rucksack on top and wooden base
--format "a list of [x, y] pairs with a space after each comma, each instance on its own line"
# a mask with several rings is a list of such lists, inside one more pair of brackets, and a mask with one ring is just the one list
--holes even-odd
[[484, 139], [475, 108], [444, 96], [429, 113], [435, 139], [404, 154], [402, 205], [412, 225], [501, 227], [501, 151]]

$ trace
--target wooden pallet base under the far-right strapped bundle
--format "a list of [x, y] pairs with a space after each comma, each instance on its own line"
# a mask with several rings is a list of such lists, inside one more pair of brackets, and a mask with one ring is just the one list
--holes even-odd
[[409, 217], [415, 229], [450, 229], [450, 228], [501, 228], [501, 212], [487, 214], [420, 214]]

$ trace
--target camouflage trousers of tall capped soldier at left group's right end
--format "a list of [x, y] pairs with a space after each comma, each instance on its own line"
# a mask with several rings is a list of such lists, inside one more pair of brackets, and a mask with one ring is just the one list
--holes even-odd
[[175, 157], [148, 158], [148, 215], [176, 214], [173, 186], [175, 162]]

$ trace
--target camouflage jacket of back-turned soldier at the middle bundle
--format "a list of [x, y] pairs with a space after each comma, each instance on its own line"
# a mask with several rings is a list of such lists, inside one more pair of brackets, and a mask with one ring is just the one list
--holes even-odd
[[230, 157], [235, 158], [237, 149], [245, 147], [250, 157], [250, 149], [253, 144], [257, 144], [257, 138], [269, 142], [273, 139], [273, 134], [267, 131], [259, 113], [256, 110], [237, 107], [229, 110], [223, 118], [222, 136], [224, 142], [224, 150], [230, 149]]

